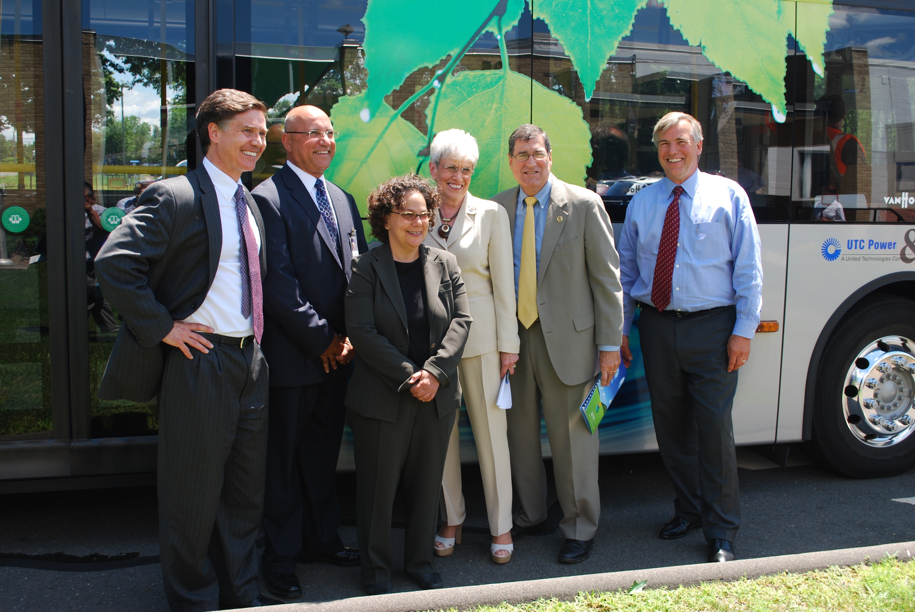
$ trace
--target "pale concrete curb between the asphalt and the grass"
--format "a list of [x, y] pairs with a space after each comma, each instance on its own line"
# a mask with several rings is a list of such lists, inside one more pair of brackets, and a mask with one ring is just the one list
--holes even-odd
[[915, 553], [915, 542], [898, 542], [880, 546], [845, 548], [820, 553], [784, 554], [759, 559], [738, 559], [727, 564], [674, 565], [645, 570], [584, 574], [522, 580], [493, 585], [457, 586], [433, 591], [392, 593], [391, 595], [350, 597], [320, 603], [286, 604], [271, 609], [276, 612], [414, 612], [416, 610], [469, 610], [501, 602], [521, 604], [540, 597], [573, 599], [581, 591], [615, 591], [628, 589], [633, 582], [647, 580], [648, 588], [677, 585], [697, 585], [711, 580], [737, 580], [744, 576], [758, 578], [767, 574], [791, 572], [794, 574], [825, 569], [832, 565], [854, 565], [868, 559], [880, 559], [898, 554], [899, 559], [910, 561]]

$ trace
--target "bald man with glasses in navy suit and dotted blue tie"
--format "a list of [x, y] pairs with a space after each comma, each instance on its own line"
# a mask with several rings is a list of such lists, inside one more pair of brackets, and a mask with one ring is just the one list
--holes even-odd
[[285, 118], [285, 166], [253, 190], [266, 228], [264, 355], [270, 424], [264, 499], [264, 582], [302, 594], [297, 561], [359, 564], [343, 546], [334, 473], [353, 358], [343, 295], [353, 255], [368, 247], [356, 202], [324, 178], [333, 125], [314, 106]]

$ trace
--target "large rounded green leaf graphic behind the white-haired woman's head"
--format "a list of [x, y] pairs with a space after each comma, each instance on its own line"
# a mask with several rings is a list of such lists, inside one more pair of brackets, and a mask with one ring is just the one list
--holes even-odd
[[[474, 193], [491, 198], [516, 185], [508, 163], [507, 143], [511, 132], [530, 121], [531, 107], [518, 104], [533, 94], [533, 123], [550, 135], [553, 173], [573, 185], [585, 180], [591, 165], [591, 137], [581, 107], [565, 96], [512, 70], [468, 70], [447, 81], [436, 94], [436, 130], [453, 127], [477, 138], [479, 166], [473, 176]], [[431, 115], [430, 112], [427, 114]], [[431, 120], [431, 116], [429, 117]]]

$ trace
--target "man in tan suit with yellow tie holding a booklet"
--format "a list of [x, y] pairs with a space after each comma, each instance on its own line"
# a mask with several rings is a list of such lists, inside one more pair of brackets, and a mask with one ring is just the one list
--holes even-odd
[[598, 372], [606, 384], [619, 368], [619, 255], [600, 197], [550, 173], [550, 138], [542, 129], [526, 124], [511, 134], [509, 164], [519, 186], [493, 199], [509, 213], [521, 338], [507, 414], [511, 476], [521, 501], [511, 536], [548, 531], [542, 400], [565, 514], [558, 561], [575, 564], [591, 555], [600, 516], [600, 442], [578, 408]]

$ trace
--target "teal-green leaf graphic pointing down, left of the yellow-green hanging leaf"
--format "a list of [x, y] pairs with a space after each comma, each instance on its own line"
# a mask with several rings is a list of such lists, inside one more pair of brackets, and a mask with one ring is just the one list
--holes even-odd
[[607, 59], [617, 51], [619, 41], [627, 36], [635, 14], [648, 0], [538, 0], [533, 3], [533, 17], [543, 19], [559, 40], [578, 71], [585, 88], [585, 100], [591, 99]]

